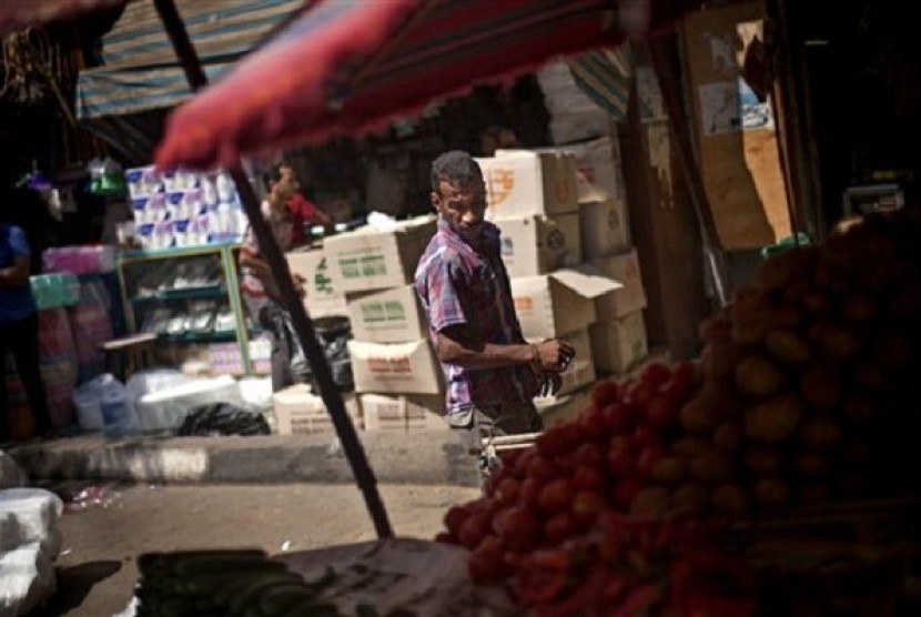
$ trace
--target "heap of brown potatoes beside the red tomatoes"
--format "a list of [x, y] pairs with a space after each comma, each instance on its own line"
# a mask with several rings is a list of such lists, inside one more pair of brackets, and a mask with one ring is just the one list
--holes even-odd
[[[701, 325], [671, 449], [708, 461], [726, 514], [917, 490], [921, 219], [868, 216], [763, 262]], [[688, 504], [670, 504], [686, 506]], [[652, 508], [658, 509], [658, 508]]]

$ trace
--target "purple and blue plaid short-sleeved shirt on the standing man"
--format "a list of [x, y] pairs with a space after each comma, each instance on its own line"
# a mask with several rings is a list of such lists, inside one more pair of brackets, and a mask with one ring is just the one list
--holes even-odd
[[[465, 325], [483, 343], [524, 343], [522, 326], [499, 252], [499, 230], [484, 223], [483, 249], [477, 251], [444, 220], [428, 243], [415, 275], [416, 293], [428, 316], [428, 332]], [[447, 413], [473, 407], [529, 402], [537, 395], [537, 380], [528, 366], [465, 368], [442, 363], [447, 387]]]

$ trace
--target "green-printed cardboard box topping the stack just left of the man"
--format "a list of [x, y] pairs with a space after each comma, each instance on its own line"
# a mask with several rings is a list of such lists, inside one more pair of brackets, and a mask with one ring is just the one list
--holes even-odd
[[412, 283], [435, 229], [434, 216], [419, 216], [395, 223], [393, 229], [364, 226], [330, 236], [323, 250], [334, 289], [366, 292]]

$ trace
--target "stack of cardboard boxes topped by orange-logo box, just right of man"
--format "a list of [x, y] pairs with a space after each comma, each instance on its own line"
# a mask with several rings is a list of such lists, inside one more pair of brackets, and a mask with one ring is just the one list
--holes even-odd
[[530, 342], [564, 338], [576, 358], [564, 373], [555, 401], [575, 403], [596, 378], [588, 326], [597, 321], [596, 302], [618, 284], [584, 274], [583, 233], [576, 158], [553, 151], [503, 151], [478, 160], [486, 180], [487, 219], [502, 230], [502, 255], [512, 295]]

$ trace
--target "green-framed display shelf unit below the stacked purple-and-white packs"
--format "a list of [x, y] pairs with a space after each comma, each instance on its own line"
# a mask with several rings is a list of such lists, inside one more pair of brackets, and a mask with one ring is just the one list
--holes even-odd
[[[158, 334], [159, 340], [175, 344], [235, 342], [242, 373], [255, 373], [250, 341], [259, 333], [259, 328], [251, 331], [246, 325], [246, 311], [240, 296], [240, 280], [236, 272], [239, 249], [240, 244], [227, 243], [120, 254], [117, 267], [128, 332], [143, 331], [144, 316], [150, 311], [164, 308], [181, 314], [183, 305], [184, 310], [188, 310], [190, 302], [213, 300], [220, 306], [230, 308], [233, 314], [232, 330], [161, 332]], [[199, 272], [208, 272], [208, 280], [198, 285], [194, 281], [185, 280], [181, 287], [170, 286], [170, 276], [175, 277], [190, 270], [194, 272], [195, 269]]]

